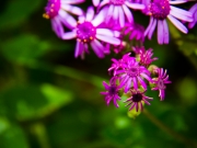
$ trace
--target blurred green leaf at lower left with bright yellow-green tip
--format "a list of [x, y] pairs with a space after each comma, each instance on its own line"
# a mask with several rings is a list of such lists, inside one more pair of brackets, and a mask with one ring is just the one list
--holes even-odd
[[5, 91], [1, 99], [8, 114], [25, 121], [47, 116], [70, 103], [73, 95], [50, 84], [16, 86]]

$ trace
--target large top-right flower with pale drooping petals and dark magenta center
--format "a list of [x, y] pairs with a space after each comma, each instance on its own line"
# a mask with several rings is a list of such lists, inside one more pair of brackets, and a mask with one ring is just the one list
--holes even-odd
[[[166, 23], [166, 18], [183, 33], [187, 33], [188, 30], [178, 20], [185, 22], [192, 22], [193, 15], [190, 12], [175, 8], [171, 4], [185, 3], [187, 0], [148, 0], [149, 11], [148, 14], [151, 15], [149, 26], [144, 32], [144, 36], [151, 39], [152, 34], [158, 24], [158, 43], [169, 44], [169, 26]], [[178, 20], [177, 20], [178, 19]]]

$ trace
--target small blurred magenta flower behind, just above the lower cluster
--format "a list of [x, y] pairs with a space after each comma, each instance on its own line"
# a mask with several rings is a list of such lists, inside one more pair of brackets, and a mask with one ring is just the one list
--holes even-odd
[[129, 39], [136, 39], [136, 41], [144, 41], [144, 27], [137, 23], [127, 23], [125, 30], [125, 35], [129, 35]]

